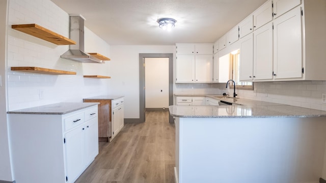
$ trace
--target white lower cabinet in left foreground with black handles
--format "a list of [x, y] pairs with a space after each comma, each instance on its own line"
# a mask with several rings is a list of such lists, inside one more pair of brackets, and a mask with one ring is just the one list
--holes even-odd
[[66, 114], [9, 114], [16, 182], [74, 182], [98, 154], [97, 105]]

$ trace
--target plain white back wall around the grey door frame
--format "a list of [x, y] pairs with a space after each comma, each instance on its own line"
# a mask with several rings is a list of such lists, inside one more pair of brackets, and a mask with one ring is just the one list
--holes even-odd
[[125, 96], [125, 118], [139, 118], [139, 53], [175, 53], [175, 45], [111, 45], [111, 95]]

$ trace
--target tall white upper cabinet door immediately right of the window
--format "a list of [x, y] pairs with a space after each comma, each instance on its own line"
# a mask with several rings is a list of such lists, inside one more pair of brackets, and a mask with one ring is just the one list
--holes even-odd
[[240, 43], [240, 81], [253, 80], [254, 40], [253, 34], [242, 38]]

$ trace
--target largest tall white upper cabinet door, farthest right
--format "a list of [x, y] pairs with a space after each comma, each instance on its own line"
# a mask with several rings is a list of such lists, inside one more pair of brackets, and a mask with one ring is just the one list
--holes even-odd
[[274, 78], [302, 77], [301, 7], [274, 20]]

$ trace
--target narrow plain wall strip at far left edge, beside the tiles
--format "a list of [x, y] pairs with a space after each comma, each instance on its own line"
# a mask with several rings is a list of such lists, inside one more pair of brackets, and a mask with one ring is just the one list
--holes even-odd
[[0, 0], [0, 180], [13, 181], [10, 164], [8, 141], [8, 121], [6, 102], [6, 31], [7, 31], [7, 0]]

